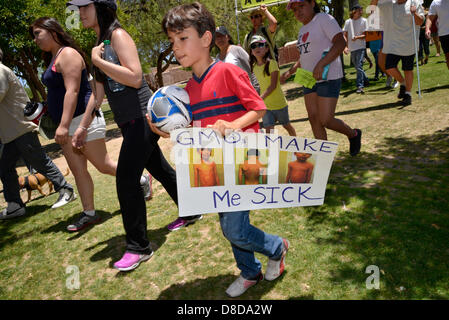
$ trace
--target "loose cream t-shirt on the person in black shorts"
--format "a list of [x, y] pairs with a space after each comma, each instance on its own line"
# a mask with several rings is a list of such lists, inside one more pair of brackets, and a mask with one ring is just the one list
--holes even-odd
[[[424, 18], [422, 2], [417, 2], [417, 13]], [[384, 46], [382, 52], [399, 56], [415, 54], [413, 40], [413, 17], [406, 9], [410, 8], [410, 0], [403, 4], [393, 3], [391, 0], [380, 0], [378, 3], [383, 22]], [[420, 25], [415, 24], [416, 43], [419, 43]]]

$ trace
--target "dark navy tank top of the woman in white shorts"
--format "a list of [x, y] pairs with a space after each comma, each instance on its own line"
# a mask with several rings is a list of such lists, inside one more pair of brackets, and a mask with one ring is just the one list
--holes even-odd
[[[58, 55], [64, 50], [62, 47], [53, 60], [50, 62], [47, 70], [42, 74], [42, 83], [47, 87], [47, 104], [48, 113], [55, 123], [60, 123], [64, 107], [64, 96], [66, 89], [64, 86], [64, 78], [62, 74], [56, 71], [54, 62]], [[81, 72], [80, 90], [78, 93], [78, 101], [76, 103], [75, 113], [73, 118], [83, 114], [86, 111], [86, 106], [89, 101], [92, 90], [87, 80], [87, 71], [83, 69]]]

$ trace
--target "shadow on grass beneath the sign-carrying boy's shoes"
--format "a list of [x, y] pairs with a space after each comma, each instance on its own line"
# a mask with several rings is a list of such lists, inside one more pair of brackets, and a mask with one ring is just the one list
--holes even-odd
[[[279, 279], [276, 279], [276, 281], [262, 280], [254, 287], [248, 289], [248, 291], [240, 297], [231, 300], [260, 300], [267, 292], [273, 289], [278, 282], [282, 281], [284, 276], [288, 277], [287, 273], [288, 271], [285, 271]], [[235, 275], [227, 274], [174, 284], [162, 291], [157, 300], [191, 300], [192, 297], [205, 297], [205, 299], [208, 300], [230, 299], [225, 291], [235, 280]]]

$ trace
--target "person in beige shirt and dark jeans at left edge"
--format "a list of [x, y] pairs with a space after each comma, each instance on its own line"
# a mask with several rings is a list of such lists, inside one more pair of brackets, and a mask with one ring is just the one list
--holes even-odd
[[[28, 121], [23, 110], [28, 95], [14, 72], [2, 63], [0, 49], [0, 140], [3, 153], [0, 155], [0, 180], [7, 207], [0, 211], [0, 220], [23, 216], [25, 204], [20, 197], [16, 162], [22, 157], [37, 172], [46, 176], [59, 191], [59, 198], [52, 208], [57, 208], [75, 199], [73, 187], [42, 149], [37, 137], [37, 126]], [[66, 198], [70, 195], [70, 198]]]

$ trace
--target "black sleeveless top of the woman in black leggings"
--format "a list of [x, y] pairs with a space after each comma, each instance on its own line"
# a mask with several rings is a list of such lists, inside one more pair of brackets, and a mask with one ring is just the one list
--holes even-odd
[[106, 75], [104, 76], [103, 86], [117, 125], [123, 126], [129, 121], [145, 118], [148, 100], [150, 100], [152, 92], [143, 76], [142, 85], [139, 89], [125, 86], [122, 91], [112, 92], [109, 89]]

